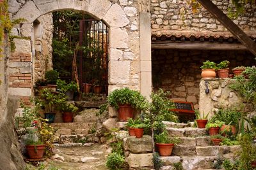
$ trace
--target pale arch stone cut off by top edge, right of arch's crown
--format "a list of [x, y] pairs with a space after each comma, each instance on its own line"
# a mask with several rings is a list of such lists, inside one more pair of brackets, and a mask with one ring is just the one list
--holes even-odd
[[[108, 0], [85, 0], [83, 1], [81, 10], [88, 11], [91, 15], [101, 20], [111, 7], [111, 2]], [[107, 22], [107, 21], [106, 21]], [[107, 24], [109, 24], [107, 22]]]

